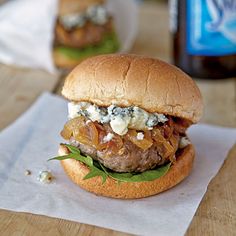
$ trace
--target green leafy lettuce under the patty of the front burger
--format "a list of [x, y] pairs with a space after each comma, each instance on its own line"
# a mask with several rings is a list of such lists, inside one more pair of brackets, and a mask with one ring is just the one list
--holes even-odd
[[100, 162], [94, 161], [90, 156], [84, 156], [80, 153], [80, 150], [72, 145], [64, 144], [70, 151], [68, 155], [57, 156], [50, 158], [50, 160], [65, 160], [74, 159], [84, 163], [89, 168], [89, 173], [84, 177], [84, 180], [93, 178], [95, 176], [101, 176], [103, 183], [105, 183], [107, 177], [110, 177], [118, 182], [143, 182], [152, 181], [164, 176], [170, 169], [171, 163], [163, 166], [159, 166], [153, 170], [147, 170], [142, 173], [118, 173], [107, 169]]

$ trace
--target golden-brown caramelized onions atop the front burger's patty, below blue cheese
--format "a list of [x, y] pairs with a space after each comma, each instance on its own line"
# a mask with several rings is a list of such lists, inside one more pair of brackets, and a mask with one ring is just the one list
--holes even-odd
[[[106, 153], [107, 156], [123, 154], [125, 150], [123, 139], [129, 140], [144, 151], [155, 145], [164, 160], [169, 158], [174, 161], [179, 143], [179, 134], [174, 131], [177, 126], [178, 131], [183, 131], [182, 128], [186, 127], [186, 124], [176, 124], [169, 118], [168, 122], [162, 126], [154, 127], [152, 131], [143, 131], [143, 139], [138, 139], [138, 131], [136, 130], [129, 129], [125, 136], [119, 136], [112, 131], [110, 125], [86, 121], [86, 118], [80, 116], [65, 124], [61, 136], [66, 140], [73, 136], [76, 141], [92, 146], [98, 151]], [[105, 142], [104, 138], [108, 133], [112, 133], [113, 136], [111, 140]]]

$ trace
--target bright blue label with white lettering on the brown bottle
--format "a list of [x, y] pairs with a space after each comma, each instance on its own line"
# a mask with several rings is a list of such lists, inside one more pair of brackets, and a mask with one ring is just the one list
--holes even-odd
[[187, 0], [186, 24], [189, 54], [236, 53], [236, 0]]

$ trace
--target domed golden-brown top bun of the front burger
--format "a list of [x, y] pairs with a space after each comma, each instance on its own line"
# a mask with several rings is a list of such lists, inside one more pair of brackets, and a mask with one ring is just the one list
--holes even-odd
[[110, 54], [89, 58], [66, 78], [62, 94], [100, 106], [139, 106], [196, 123], [203, 111], [201, 93], [183, 71], [158, 59]]

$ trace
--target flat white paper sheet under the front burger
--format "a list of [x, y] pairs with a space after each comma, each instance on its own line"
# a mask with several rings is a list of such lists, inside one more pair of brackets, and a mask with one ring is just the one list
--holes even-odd
[[[189, 136], [197, 156], [191, 175], [175, 188], [140, 200], [98, 197], [73, 184], [58, 161], [47, 162], [62, 141], [64, 100], [50, 94], [0, 134], [0, 208], [58, 217], [141, 235], [183, 235], [207, 189], [236, 141], [236, 129], [195, 125]], [[25, 176], [26, 169], [32, 175]], [[37, 181], [51, 170], [51, 184]]]

